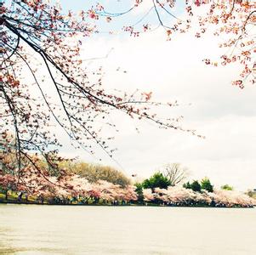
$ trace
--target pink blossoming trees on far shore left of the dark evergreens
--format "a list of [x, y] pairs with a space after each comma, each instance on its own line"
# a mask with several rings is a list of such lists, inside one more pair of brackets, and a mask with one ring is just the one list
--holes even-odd
[[[31, 172], [32, 170], [30, 169], [26, 173]], [[93, 199], [94, 201], [99, 199], [105, 201], [137, 200], [133, 185], [122, 187], [105, 180], [89, 183], [86, 178], [74, 174], [67, 175], [65, 178], [58, 178], [56, 176], [46, 177], [43, 174], [34, 172], [34, 174], [24, 175], [20, 178], [19, 185], [17, 185], [17, 178], [14, 178], [13, 175], [4, 174], [0, 175], [0, 187], [5, 190], [21, 191], [48, 200], [78, 197]]]

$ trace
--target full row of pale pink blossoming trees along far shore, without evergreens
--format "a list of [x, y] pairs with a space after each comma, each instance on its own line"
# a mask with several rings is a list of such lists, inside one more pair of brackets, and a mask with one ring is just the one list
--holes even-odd
[[[90, 183], [86, 178], [70, 174], [65, 178], [57, 178], [43, 175], [33, 168], [25, 169], [23, 183], [16, 186], [14, 175], [0, 175], [0, 201], [1, 192], [4, 191], [5, 202], [9, 200], [9, 191], [19, 192], [14, 202], [33, 202], [47, 204], [103, 204], [123, 205], [133, 202], [137, 204], [139, 194], [135, 186], [128, 184], [124, 187], [112, 184], [105, 180]], [[182, 186], [168, 186], [167, 189], [155, 187], [144, 189], [143, 201], [153, 205], [177, 206], [177, 207], [253, 207], [256, 201], [249, 196], [234, 190], [201, 190], [195, 191]], [[26, 201], [24, 201], [26, 195]], [[138, 201], [138, 204], [141, 201]]]

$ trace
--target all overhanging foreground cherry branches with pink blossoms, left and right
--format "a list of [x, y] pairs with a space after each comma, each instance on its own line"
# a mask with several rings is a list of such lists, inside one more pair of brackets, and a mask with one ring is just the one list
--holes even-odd
[[[112, 94], [105, 91], [102, 83], [102, 70], [92, 74], [82, 63], [81, 48], [84, 38], [98, 33], [95, 20], [106, 19], [107, 22], [119, 16], [133, 12], [144, 1], [131, 1], [131, 8], [120, 14], [111, 14], [100, 3], [88, 10], [82, 10], [79, 16], [71, 11], [63, 14], [59, 4], [43, 0], [1, 1], [1, 77], [0, 77], [0, 128], [1, 145], [5, 153], [16, 157], [17, 166], [9, 167], [6, 173], [17, 176], [22, 183], [24, 169], [37, 171], [48, 178], [37, 165], [37, 155], [41, 154], [52, 168], [60, 160], [56, 154], [60, 146], [54, 133], [49, 132], [50, 123], [56, 122], [77, 147], [94, 153], [97, 144], [112, 156], [108, 140], [101, 128], [95, 123], [105, 122], [105, 127], [116, 129], [116, 123], [109, 121], [112, 111], [156, 123], [159, 127], [184, 130], [179, 119], [162, 120], [154, 111], [155, 106], [163, 104], [151, 100], [151, 92]], [[170, 39], [174, 32], [185, 32], [191, 28], [191, 17], [202, 2], [185, 1], [185, 15], [179, 19], [172, 12], [177, 5], [175, 1], [153, 0], [149, 12], [155, 14], [157, 27], [162, 27]], [[231, 48], [230, 55], [221, 56], [222, 65], [239, 62], [243, 69], [241, 79], [234, 84], [244, 87], [244, 81], [255, 82], [253, 63], [255, 48], [254, 36], [250, 34], [255, 26], [255, 3], [250, 1], [219, 1], [208, 3], [208, 14], [199, 17], [201, 37], [210, 24], [216, 26], [216, 34], [225, 33], [228, 41], [222, 47]], [[174, 22], [166, 24], [165, 15]], [[141, 29], [123, 24], [123, 31], [132, 36], [152, 30], [146, 15], [139, 17]], [[141, 23], [139, 23], [141, 24]], [[217, 65], [205, 59], [207, 64]], [[56, 95], [48, 97], [46, 90], [50, 84]], [[35, 96], [31, 91], [37, 91]], [[175, 104], [167, 103], [169, 107]], [[194, 133], [193, 130], [186, 130]], [[9, 139], [9, 133], [14, 137]], [[94, 144], [91, 143], [94, 142]], [[53, 149], [54, 148], [54, 149]], [[49, 152], [49, 150], [52, 150]], [[33, 153], [31, 153], [33, 152]], [[9, 165], [7, 165], [9, 166]], [[65, 174], [64, 171], [59, 173]]]

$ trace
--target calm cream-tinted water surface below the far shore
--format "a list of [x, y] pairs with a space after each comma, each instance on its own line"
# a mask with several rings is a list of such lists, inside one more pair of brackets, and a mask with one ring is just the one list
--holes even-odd
[[256, 210], [0, 205], [0, 254], [256, 254]]

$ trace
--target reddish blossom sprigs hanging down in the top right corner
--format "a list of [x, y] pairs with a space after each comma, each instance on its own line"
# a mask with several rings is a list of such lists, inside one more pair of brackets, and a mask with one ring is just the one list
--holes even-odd
[[[146, 0], [136, 1], [134, 8], [139, 8], [145, 2]], [[185, 12], [178, 16], [175, 8], [180, 7]], [[241, 73], [239, 77], [234, 77], [232, 84], [244, 88], [245, 84], [256, 82], [255, 9], [255, 1], [249, 0], [152, 0], [148, 12], [135, 22], [135, 26], [124, 26], [123, 29], [131, 36], [138, 37], [140, 33], [160, 27], [167, 34], [168, 40], [177, 32], [185, 33], [196, 29], [195, 36], [199, 38], [208, 30], [213, 31], [214, 36], [224, 39], [219, 47], [225, 49], [225, 54], [220, 55], [219, 59], [208, 59], [206, 56], [203, 61], [206, 65], [213, 66], [237, 63], [241, 66]], [[98, 19], [100, 14], [105, 14], [105, 9], [95, 13], [98, 14]], [[156, 25], [151, 24], [148, 18], [151, 13], [156, 16]]]

